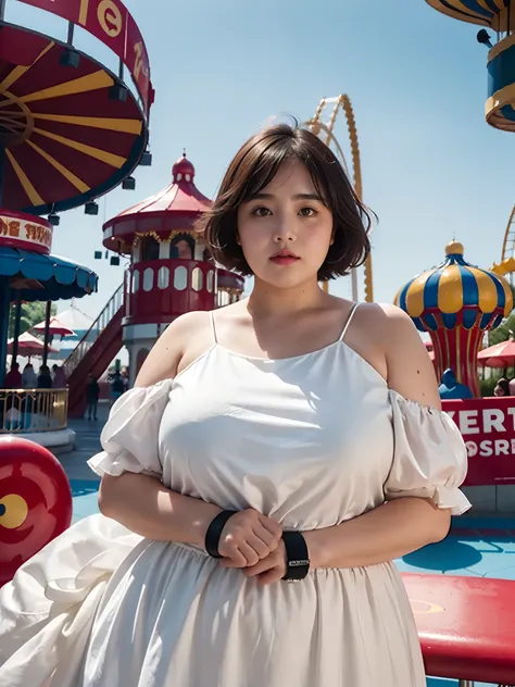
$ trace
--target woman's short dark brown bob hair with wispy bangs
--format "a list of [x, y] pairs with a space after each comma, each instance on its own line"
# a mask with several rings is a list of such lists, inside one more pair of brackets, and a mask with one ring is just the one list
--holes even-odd
[[366, 260], [372, 218], [360, 202], [335, 153], [298, 125], [277, 124], [246, 141], [229, 164], [212, 208], [199, 220], [215, 261], [249, 276], [252, 271], [237, 243], [238, 207], [267, 186], [286, 160], [305, 165], [317, 193], [332, 212], [334, 239], [318, 280], [344, 276]]

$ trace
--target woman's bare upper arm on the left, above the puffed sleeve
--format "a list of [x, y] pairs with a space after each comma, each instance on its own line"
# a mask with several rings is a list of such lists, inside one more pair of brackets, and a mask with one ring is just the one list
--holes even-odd
[[189, 312], [174, 320], [145, 360], [136, 378], [136, 386], [145, 387], [162, 379], [173, 379], [185, 354], [188, 339], [191, 340], [199, 332], [199, 326], [205, 327], [206, 316], [205, 312]]

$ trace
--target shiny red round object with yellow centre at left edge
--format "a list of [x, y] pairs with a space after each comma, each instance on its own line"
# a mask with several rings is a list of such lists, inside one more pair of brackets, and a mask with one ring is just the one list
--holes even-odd
[[61, 463], [34, 441], [0, 437], [0, 587], [71, 522]]

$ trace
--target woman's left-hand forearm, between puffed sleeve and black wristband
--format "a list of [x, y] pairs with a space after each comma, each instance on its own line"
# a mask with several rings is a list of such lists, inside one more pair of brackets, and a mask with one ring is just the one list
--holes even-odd
[[106, 475], [99, 491], [99, 509], [142, 537], [203, 546], [217, 505], [166, 489], [148, 475]]

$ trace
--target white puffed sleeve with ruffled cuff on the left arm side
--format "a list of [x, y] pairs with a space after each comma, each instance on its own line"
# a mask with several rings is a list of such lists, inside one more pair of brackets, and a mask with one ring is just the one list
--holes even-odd
[[159, 427], [172, 384], [165, 379], [150, 387], [135, 387], [117, 399], [100, 436], [103, 451], [88, 461], [93, 472], [100, 476], [133, 472], [161, 477]]

